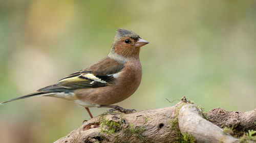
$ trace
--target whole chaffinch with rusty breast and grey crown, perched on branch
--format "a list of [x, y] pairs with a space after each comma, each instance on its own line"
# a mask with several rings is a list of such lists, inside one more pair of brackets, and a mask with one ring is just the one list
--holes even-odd
[[118, 28], [109, 54], [94, 65], [70, 74], [53, 85], [37, 92], [14, 98], [18, 99], [49, 96], [73, 100], [85, 107], [93, 118], [89, 107], [110, 107], [120, 112], [133, 112], [114, 103], [131, 96], [139, 87], [142, 69], [139, 59], [140, 47], [148, 44], [136, 33]]

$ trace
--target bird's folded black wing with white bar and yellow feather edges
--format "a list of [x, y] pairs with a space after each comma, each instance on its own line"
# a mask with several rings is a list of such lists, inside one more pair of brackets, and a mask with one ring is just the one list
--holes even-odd
[[[118, 70], [113, 70], [113, 66], [106, 68], [106, 71], [115, 71], [120, 72], [123, 68]], [[116, 67], [115, 67], [116, 68]], [[109, 73], [109, 74], [108, 74]], [[50, 85], [48, 87], [39, 89], [39, 92], [70, 92], [75, 89], [82, 88], [99, 88], [105, 87], [109, 84], [114, 84], [115, 77], [113, 72], [107, 72], [100, 74], [99, 72], [80, 70], [73, 74], [66, 76], [65, 78], [60, 79], [57, 83]]]

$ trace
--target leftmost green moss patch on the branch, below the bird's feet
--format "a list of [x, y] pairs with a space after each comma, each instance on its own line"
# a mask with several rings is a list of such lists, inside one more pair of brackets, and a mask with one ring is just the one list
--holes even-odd
[[104, 116], [100, 118], [100, 129], [102, 133], [106, 133], [110, 135], [112, 133], [116, 133], [121, 129], [121, 125], [118, 122], [106, 120]]

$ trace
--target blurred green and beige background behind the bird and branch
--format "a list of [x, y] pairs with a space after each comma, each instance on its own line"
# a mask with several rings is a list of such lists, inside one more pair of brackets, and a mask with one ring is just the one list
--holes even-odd
[[[137, 110], [187, 96], [207, 111], [256, 107], [256, 1], [0, 1], [0, 101], [32, 93], [99, 61], [115, 31], [150, 44], [139, 89], [118, 103]], [[91, 108], [94, 116], [108, 108]], [[53, 142], [89, 119], [50, 97], [0, 105], [1, 142]]]

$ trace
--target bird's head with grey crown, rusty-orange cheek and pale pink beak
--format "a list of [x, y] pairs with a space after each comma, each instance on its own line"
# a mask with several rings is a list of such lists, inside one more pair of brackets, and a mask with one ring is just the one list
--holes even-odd
[[145, 44], [148, 42], [136, 33], [125, 28], [118, 28], [110, 53], [115, 52], [124, 58], [139, 56], [140, 47]]

